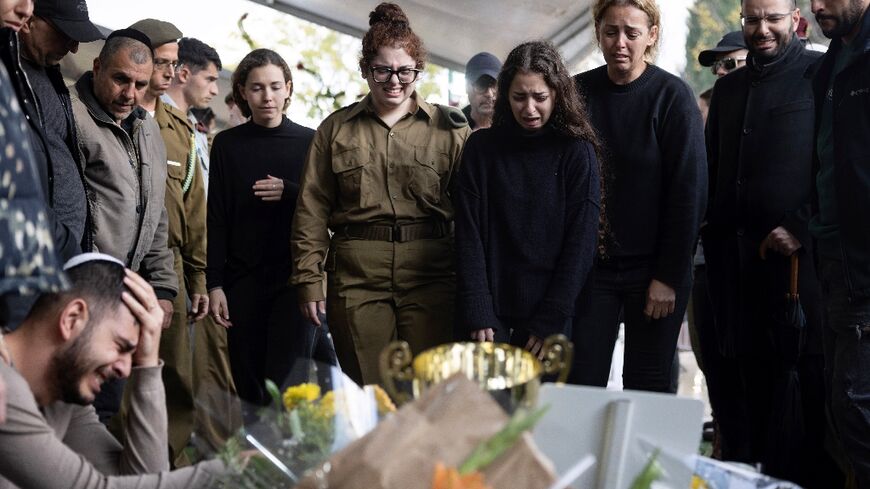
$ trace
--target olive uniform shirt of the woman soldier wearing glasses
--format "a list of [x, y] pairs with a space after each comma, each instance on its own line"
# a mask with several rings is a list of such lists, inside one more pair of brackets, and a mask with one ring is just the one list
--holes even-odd
[[291, 281], [301, 303], [324, 299], [328, 229], [453, 220], [449, 189], [471, 130], [458, 110], [414, 97], [417, 108], [392, 128], [375, 114], [371, 95], [336, 111], [318, 128], [291, 236]]

